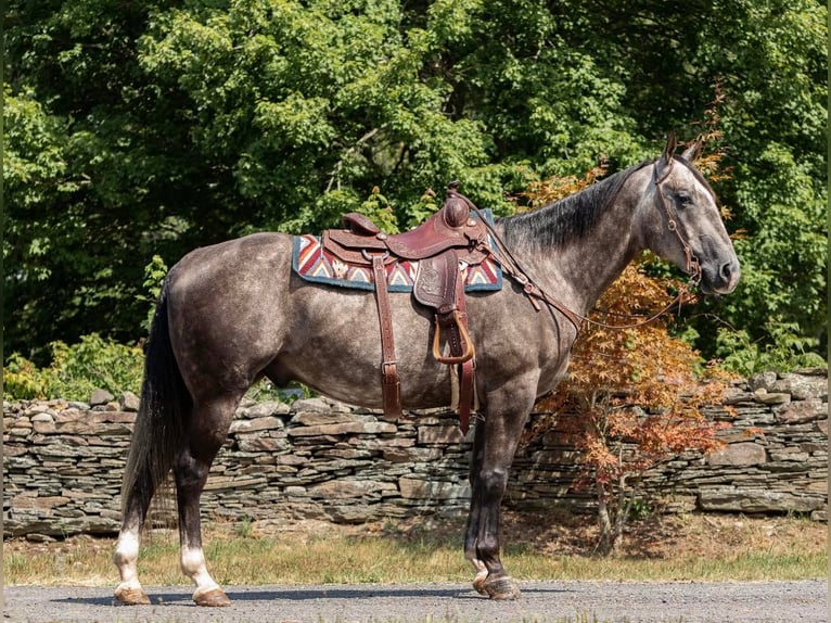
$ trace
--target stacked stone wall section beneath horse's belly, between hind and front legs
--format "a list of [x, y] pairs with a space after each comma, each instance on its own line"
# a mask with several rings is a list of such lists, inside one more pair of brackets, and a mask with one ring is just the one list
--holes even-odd
[[446, 411], [393, 424], [323, 398], [245, 403], [202, 508], [232, 520], [338, 523], [459, 511], [470, 497], [469, 445]]

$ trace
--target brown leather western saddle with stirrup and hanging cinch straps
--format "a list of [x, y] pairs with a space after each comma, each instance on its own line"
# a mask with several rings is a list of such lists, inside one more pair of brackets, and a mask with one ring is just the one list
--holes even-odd
[[[474, 400], [475, 347], [468, 332], [460, 263], [481, 264], [491, 251], [488, 225], [470, 200], [457, 191], [458, 186], [459, 182], [451, 182], [442, 209], [411, 231], [386, 234], [362, 214], [349, 213], [343, 217], [347, 229], [324, 231], [322, 243], [342, 262], [372, 269], [381, 322], [384, 417], [393, 421], [401, 416], [401, 396], [385, 267], [399, 259], [418, 260], [413, 296], [435, 310], [434, 357], [442, 364], [461, 368], [458, 371], [459, 424], [466, 433]], [[471, 208], [476, 214], [472, 214]], [[449, 351], [446, 354], [442, 351], [443, 333]]]

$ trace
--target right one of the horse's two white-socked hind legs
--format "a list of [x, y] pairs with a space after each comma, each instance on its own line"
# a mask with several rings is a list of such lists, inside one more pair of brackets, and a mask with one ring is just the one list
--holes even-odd
[[187, 442], [174, 465], [176, 497], [179, 506], [179, 543], [182, 573], [196, 586], [197, 606], [229, 606], [230, 600], [207, 570], [202, 549], [200, 497], [208, 470], [228, 434], [228, 427], [240, 395], [222, 396], [196, 404]]

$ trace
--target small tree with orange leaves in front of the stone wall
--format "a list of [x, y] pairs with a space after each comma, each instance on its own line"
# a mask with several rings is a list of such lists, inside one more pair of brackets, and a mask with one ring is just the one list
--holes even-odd
[[[667, 291], [679, 287], [629, 265], [591, 320], [622, 325], [632, 310], [660, 309]], [[702, 364], [694, 349], [669, 335], [666, 316], [628, 329], [584, 323], [568, 377], [544, 405], [559, 414], [561, 428], [583, 450], [578, 484], [597, 497], [601, 555], [621, 543], [647, 470], [688, 450], [720, 447], [716, 432], [724, 423], [709, 421], [701, 407], [719, 403], [727, 384], [706, 368], [711, 378], [702, 383]]]

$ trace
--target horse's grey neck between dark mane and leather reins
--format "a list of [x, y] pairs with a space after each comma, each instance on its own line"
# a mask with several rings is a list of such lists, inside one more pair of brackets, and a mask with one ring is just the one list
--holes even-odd
[[[631, 179], [625, 186], [637, 183]], [[623, 190], [579, 240], [542, 251], [530, 246], [513, 251], [537, 285], [579, 315], [588, 313], [642, 249], [635, 227], [638, 194]]]

